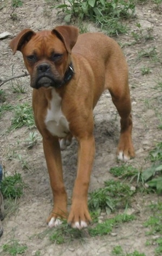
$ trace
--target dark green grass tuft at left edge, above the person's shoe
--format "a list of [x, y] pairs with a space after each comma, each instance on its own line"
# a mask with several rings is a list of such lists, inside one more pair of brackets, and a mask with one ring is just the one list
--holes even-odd
[[4, 198], [17, 199], [23, 195], [24, 186], [21, 174], [15, 173], [13, 176], [4, 176], [1, 191]]

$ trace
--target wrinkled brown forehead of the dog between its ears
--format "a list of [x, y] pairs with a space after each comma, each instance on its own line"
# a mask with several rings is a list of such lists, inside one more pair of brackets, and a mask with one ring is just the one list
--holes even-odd
[[65, 45], [51, 31], [41, 31], [33, 35], [22, 49], [23, 54], [38, 56], [50, 56], [52, 52], [63, 53], [66, 51]]

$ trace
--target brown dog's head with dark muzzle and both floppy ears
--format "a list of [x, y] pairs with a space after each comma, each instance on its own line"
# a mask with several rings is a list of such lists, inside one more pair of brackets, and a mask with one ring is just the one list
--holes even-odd
[[31, 87], [60, 87], [69, 68], [78, 28], [58, 26], [49, 31], [22, 30], [11, 42], [14, 54], [21, 51], [31, 77]]

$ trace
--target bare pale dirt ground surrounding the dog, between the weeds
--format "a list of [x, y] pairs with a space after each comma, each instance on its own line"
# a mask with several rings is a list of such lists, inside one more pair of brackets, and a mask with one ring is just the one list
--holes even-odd
[[[9, 47], [11, 38], [24, 28], [31, 28], [35, 31], [42, 29], [52, 29], [56, 25], [64, 24], [62, 15], [57, 17], [56, 10], [50, 9], [47, 1], [23, 1], [23, 6], [15, 10], [16, 19], [11, 19], [11, 2], [0, 1], [0, 32], [8, 31], [12, 35], [0, 41], [0, 78], [2, 80], [14, 75], [22, 74], [25, 71], [21, 52], [12, 56]], [[132, 99], [133, 116], [133, 143], [136, 149], [136, 158], [130, 161], [130, 164], [139, 169], [145, 169], [150, 165], [147, 156], [157, 142], [161, 140], [161, 130], [158, 129], [161, 118], [161, 96], [155, 89], [161, 78], [161, 62], [152, 61], [150, 58], [138, 58], [139, 51], [156, 47], [158, 58], [162, 53], [162, 9], [157, 10], [156, 5], [148, 1], [147, 4], [137, 5], [136, 18], [129, 21], [130, 31], [128, 35], [118, 36], [115, 39], [124, 46], [123, 51], [127, 58], [130, 70], [130, 89]], [[138, 43], [131, 32], [137, 32], [139, 29], [136, 23], [141, 24], [142, 36]], [[95, 25], [89, 24], [90, 31], [97, 31]], [[153, 40], [146, 40], [145, 35], [151, 33]], [[129, 45], [130, 44], [130, 45]], [[161, 58], [162, 60], [162, 58]], [[14, 65], [14, 66], [13, 66]], [[151, 73], [141, 74], [141, 68], [149, 67]], [[26, 85], [25, 94], [14, 94], [11, 82], [5, 83], [1, 89], [6, 94], [5, 103], [16, 104], [28, 102], [31, 104], [31, 93], [29, 77], [19, 79], [20, 83]], [[12, 81], [16, 83], [16, 81]], [[3, 104], [1, 102], [1, 104]], [[93, 167], [90, 191], [103, 187], [104, 181], [112, 178], [109, 169], [118, 165], [116, 160], [116, 148], [119, 139], [119, 117], [113, 106], [110, 94], [107, 92], [100, 98], [94, 111], [95, 116], [95, 139], [96, 139], [96, 157]], [[39, 239], [39, 233], [45, 231], [46, 218], [52, 207], [52, 193], [49, 184], [49, 176], [43, 155], [42, 139], [32, 149], [25, 145], [25, 139], [29, 137], [29, 130], [26, 127], [16, 129], [10, 133], [6, 130], [11, 124], [11, 112], [6, 112], [0, 119], [0, 157], [8, 175], [21, 173], [24, 182], [28, 185], [25, 193], [18, 201], [17, 211], [6, 215], [3, 220], [4, 234], [0, 239], [0, 245], [9, 242], [13, 237], [28, 246], [24, 255], [31, 256], [95, 256], [111, 255], [112, 248], [116, 245], [122, 245], [126, 253], [138, 250], [147, 256], [154, 255], [154, 246], [145, 246], [147, 237], [146, 228], [143, 223], [147, 220], [149, 212], [147, 205], [151, 202], [161, 200], [156, 194], [137, 195], [134, 198], [132, 212], [137, 213], [137, 220], [131, 223], [122, 224], [116, 227], [112, 234], [103, 237], [91, 238], [85, 236], [83, 240], [75, 239], [68, 244], [57, 245], [50, 242], [48, 237]], [[36, 130], [36, 128], [32, 129]], [[37, 131], [37, 130], [36, 130]], [[9, 157], [16, 152], [21, 154], [22, 159], [28, 162], [29, 169], [23, 170], [21, 162], [17, 158]], [[11, 158], [11, 160], [9, 160]], [[69, 196], [72, 193], [73, 182], [76, 175], [77, 165], [77, 142], [73, 140], [70, 148], [62, 152], [64, 180]], [[114, 236], [114, 233], [116, 234]], [[1, 250], [0, 250], [1, 252]], [[6, 255], [1, 252], [1, 255]]]

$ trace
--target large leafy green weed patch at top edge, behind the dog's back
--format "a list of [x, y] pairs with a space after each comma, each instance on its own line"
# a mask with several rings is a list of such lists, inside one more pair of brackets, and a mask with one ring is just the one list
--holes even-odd
[[95, 22], [103, 30], [109, 34], [118, 34], [119, 32], [126, 32], [120, 20], [122, 18], [129, 18], [135, 9], [133, 1], [124, 0], [64, 0], [64, 4], [56, 6], [60, 9], [59, 12], [64, 12], [65, 22], [69, 23], [72, 17], [77, 17], [80, 20], [89, 18]]

